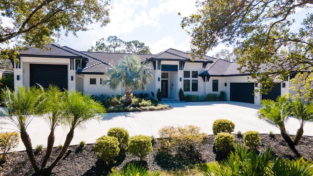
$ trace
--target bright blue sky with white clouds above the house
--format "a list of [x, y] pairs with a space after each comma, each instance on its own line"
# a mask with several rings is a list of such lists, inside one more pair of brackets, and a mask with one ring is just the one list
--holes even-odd
[[[181, 16], [196, 13], [195, 0], [113, 0], [110, 2], [111, 22], [100, 28], [100, 24], [92, 24], [90, 30], [73, 35], [62, 36], [59, 44], [77, 50], [87, 50], [102, 37], [116, 35], [124, 41], [139, 40], [148, 45], [153, 54], [168, 48], [189, 50], [190, 37], [180, 27]], [[296, 19], [293, 28], [299, 28], [305, 14], [312, 8], [298, 8], [291, 18]], [[208, 55], [225, 48], [223, 44], [209, 51]], [[232, 47], [228, 47], [232, 50]]]

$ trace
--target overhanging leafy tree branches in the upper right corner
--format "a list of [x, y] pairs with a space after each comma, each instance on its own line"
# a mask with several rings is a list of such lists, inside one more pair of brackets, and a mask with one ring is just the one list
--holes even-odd
[[[298, 23], [292, 18], [297, 9], [311, 8], [308, 5], [312, 3], [311, 0], [199, 1], [199, 11], [182, 18], [181, 26], [191, 28], [187, 32], [192, 37], [192, 55], [201, 57], [221, 43], [233, 45], [240, 56], [241, 72], [253, 73], [252, 78], [267, 87], [274, 86], [275, 78], [282, 82], [293, 73], [307, 71], [297, 76], [300, 81], [295, 82], [294, 89], [298, 96], [312, 100], [313, 13], [306, 14]], [[258, 74], [261, 68], [267, 72]], [[303, 88], [305, 91], [300, 91]], [[261, 87], [260, 91], [269, 90]]]

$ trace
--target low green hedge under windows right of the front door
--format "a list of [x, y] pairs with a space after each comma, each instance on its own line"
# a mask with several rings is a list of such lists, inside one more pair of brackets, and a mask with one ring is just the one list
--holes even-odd
[[206, 94], [206, 95], [185, 95], [184, 101], [226, 101], [226, 93], [221, 91], [220, 94]]

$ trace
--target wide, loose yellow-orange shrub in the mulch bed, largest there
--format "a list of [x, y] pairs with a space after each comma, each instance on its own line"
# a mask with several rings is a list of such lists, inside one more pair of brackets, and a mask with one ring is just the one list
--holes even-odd
[[207, 137], [200, 133], [200, 127], [187, 125], [185, 127], [167, 126], [159, 130], [161, 137], [161, 152], [171, 153], [187, 160], [192, 160], [198, 155], [199, 147]]

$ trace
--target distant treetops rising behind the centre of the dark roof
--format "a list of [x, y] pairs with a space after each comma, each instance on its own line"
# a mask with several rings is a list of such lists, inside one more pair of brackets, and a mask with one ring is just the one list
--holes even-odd
[[[109, 44], [105, 44], [105, 41]], [[99, 39], [96, 41], [96, 45], [91, 46], [88, 51], [151, 54], [149, 46], [145, 46], [145, 43], [138, 40], [126, 42], [116, 36], [109, 36], [106, 40], [104, 38]]]

